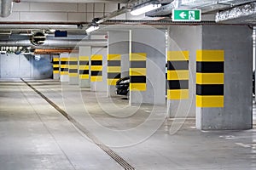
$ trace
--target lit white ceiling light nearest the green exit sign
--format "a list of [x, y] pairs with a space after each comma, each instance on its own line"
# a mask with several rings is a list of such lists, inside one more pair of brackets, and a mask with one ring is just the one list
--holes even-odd
[[147, 3], [147, 4], [139, 5], [137, 6], [137, 8], [132, 9], [131, 14], [140, 15], [160, 7], [161, 7], [160, 3]]

